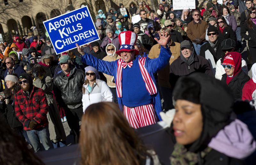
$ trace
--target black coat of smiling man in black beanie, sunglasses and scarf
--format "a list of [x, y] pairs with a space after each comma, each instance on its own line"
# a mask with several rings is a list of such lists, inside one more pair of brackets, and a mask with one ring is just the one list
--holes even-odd
[[221, 58], [221, 55], [224, 54], [224, 52], [221, 50], [221, 42], [222, 40], [219, 38], [219, 41], [218, 41], [218, 45], [217, 45], [217, 50], [216, 52], [212, 49], [209, 41], [207, 41], [206, 44], [202, 45], [201, 48], [200, 48], [200, 54], [199, 56], [202, 56], [205, 58], [205, 51], [206, 50], [209, 50], [211, 53], [212, 53], [212, 56], [214, 58], [214, 61], [215, 61], [215, 64], [217, 63], [217, 61]]

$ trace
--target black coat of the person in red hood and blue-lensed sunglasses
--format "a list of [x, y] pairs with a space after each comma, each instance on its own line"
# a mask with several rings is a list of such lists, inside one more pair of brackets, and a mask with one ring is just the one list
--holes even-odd
[[[244, 73], [244, 71], [241, 69], [235, 77], [228, 83], [228, 86], [233, 91], [234, 97], [236, 100], [242, 99], [243, 94], [243, 88], [244, 84], [250, 80], [250, 77]], [[221, 81], [226, 83], [227, 81], [227, 74], [223, 74]]]

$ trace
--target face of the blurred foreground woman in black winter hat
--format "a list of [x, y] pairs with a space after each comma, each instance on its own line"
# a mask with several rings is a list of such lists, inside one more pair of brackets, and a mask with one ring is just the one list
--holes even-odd
[[181, 145], [194, 143], [203, 131], [201, 104], [177, 100], [175, 109], [172, 124], [177, 143]]

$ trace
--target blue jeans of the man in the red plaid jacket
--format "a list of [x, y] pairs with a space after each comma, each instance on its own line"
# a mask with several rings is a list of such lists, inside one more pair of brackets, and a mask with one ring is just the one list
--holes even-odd
[[52, 142], [50, 140], [50, 133], [48, 125], [46, 127], [38, 128], [36, 130], [27, 131], [28, 139], [33, 146], [35, 153], [42, 151], [40, 140], [44, 146], [45, 150], [53, 148]]

